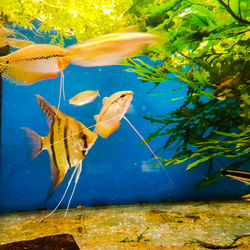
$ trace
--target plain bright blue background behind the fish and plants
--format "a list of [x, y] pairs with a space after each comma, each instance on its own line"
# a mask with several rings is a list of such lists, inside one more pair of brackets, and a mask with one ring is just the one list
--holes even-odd
[[[49, 37], [38, 37], [32, 32], [20, 30], [36, 43], [49, 43]], [[76, 41], [68, 41], [66, 46]], [[150, 62], [149, 58], [141, 57]], [[85, 126], [95, 124], [94, 115], [102, 107], [102, 98], [121, 90], [132, 90], [132, 107], [126, 117], [144, 136], [154, 132], [159, 125], [151, 124], [144, 115], [162, 115], [175, 110], [182, 100], [172, 98], [185, 96], [186, 90], [170, 95], [167, 93], [179, 87], [177, 82], [165, 82], [154, 88], [153, 83], [143, 83], [138, 75], [127, 72], [125, 66], [83, 68], [70, 64], [64, 70], [66, 101], [61, 102], [60, 111], [74, 117]], [[51, 105], [57, 106], [60, 77], [37, 82], [31, 86], [18, 86], [3, 81], [2, 91], [2, 141], [1, 141], [1, 182], [0, 212], [53, 209], [67, 186], [71, 169], [53, 196], [45, 203], [51, 186], [50, 159], [46, 150], [31, 160], [30, 145], [21, 127], [29, 127], [41, 136], [46, 136], [49, 128], [45, 115], [36, 103], [39, 94]], [[74, 107], [68, 100], [84, 90], [99, 90], [99, 97], [93, 103]], [[159, 137], [149, 144], [155, 151], [164, 145], [166, 138]], [[160, 151], [158, 156], [170, 158], [172, 151]], [[232, 160], [231, 160], [232, 162]], [[140, 202], [156, 203], [174, 200], [210, 200], [225, 196], [238, 197], [247, 193], [247, 187], [227, 178], [211, 185], [195, 189], [194, 186], [207, 176], [208, 164], [201, 164], [185, 171], [188, 163], [167, 167], [171, 184], [161, 168], [149, 167], [152, 154], [129, 124], [121, 121], [120, 128], [107, 139], [99, 137], [83, 160], [81, 173], [71, 206], [94, 206], [100, 204], [120, 205]], [[230, 160], [216, 159], [211, 173], [228, 166]], [[73, 186], [73, 184], [71, 185]], [[72, 187], [61, 207], [65, 208]]]

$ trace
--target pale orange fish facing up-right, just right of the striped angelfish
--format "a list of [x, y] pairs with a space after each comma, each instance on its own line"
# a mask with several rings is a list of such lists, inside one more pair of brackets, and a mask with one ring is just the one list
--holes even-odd
[[120, 127], [120, 120], [127, 112], [133, 99], [132, 91], [119, 91], [110, 97], [103, 98], [99, 115], [95, 116], [95, 132], [107, 138]]

